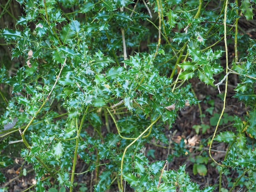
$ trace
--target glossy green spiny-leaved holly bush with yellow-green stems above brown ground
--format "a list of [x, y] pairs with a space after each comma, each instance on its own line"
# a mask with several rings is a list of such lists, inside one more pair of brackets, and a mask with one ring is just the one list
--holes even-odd
[[[246, 174], [248, 190], [256, 189], [256, 41], [238, 31], [240, 17], [253, 18], [253, 2], [17, 1], [24, 12], [15, 29], [0, 31], [7, 45], [15, 45], [12, 58], [22, 63], [16, 69], [1, 63], [1, 147], [22, 146], [36, 191], [63, 185], [72, 191], [84, 186], [76, 178], [88, 172], [92, 179], [84, 190], [124, 191], [129, 185], [141, 192], [213, 191], [217, 186], [200, 189], [193, 183], [185, 165], [164, 170], [165, 159], [150, 163], [143, 150], [150, 141], [168, 146], [164, 129], [180, 109], [200, 102], [191, 78], [219, 91], [225, 82], [209, 156], [213, 140], [228, 143], [222, 162], [211, 157], [220, 176], [243, 170], [237, 182]], [[221, 79], [214, 78], [218, 74]], [[216, 135], [231, 74], [239, 78], [234, 97], [248, 111], [234, 116], [235, 131]], [[184, 143], [173, 146], [178, 156], [187, 154]]]

